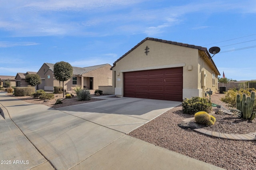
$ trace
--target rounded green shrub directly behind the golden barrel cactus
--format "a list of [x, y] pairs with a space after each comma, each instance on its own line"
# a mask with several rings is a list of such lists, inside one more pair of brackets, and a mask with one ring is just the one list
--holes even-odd
[[198, 111], [210, 112], [212, 103], [207, 98], [192, 97], [182, 102], [182, 111], [186, 114], [194, 115]]

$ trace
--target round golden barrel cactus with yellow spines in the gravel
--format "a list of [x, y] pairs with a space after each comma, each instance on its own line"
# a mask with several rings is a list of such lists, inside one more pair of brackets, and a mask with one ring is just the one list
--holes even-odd
[[199, 111], [195, 114], [195, 121], [203, 125], [214, 125], [216, 119], [205, 111]]

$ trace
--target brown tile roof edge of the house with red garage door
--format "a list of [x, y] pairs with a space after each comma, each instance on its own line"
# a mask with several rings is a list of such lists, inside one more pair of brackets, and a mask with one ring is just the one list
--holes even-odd
[[114, 63], [113, 66], [110, 68], [112, 70], [112, 68], [116, 65], [116, 63], [118, 61], [120, 61], [122, 58], [124, 58], [126, 55], [128, 55], [130, 52], [132, 52], [134, 49], [136, 49], [139, 45], [141, 45], [142, 43], [144, 43], [147, 40], [151, 40], [151, 41], [157, 41], [157, 42], [161, 42], [161, 43], [168, 43], [168, 44], [172, 44], [172, 45], [179, 45], [182, 47], [188, 47], [188, 48], [193, 48], [193, 49], [198, 49], [200, 51], [204, 51], [206, 53], [206, 55], [208, 56], [210, 63], [214, 66], [214, 68], [216, 68], [216, 71], [219, 74], [219, 71], [216, 67], [216, 65], [214, 64], [214, 62], [212, 61], [212, 59], [209, 57], [210, 53], [207, 51], [206, 47], [201, 47], [201, 46], [196, 46], [196, 45], [190, 45], [190, 44], [184, 44], [184, 43], [178, 43], [175, 41], [167, 41], [167, 40], [163, 40], [163, 39], [156, 39], [156, 38], [150, 38], [150, 37], [146, 37], [144, 40], [142, 40], [140, 43], [138, 43], [137, 45], [135, 45], [132, 49], [130, 49], [127, 53], [125, 53], [122, 57], [120, 57], [119, 59], [117, 59]]

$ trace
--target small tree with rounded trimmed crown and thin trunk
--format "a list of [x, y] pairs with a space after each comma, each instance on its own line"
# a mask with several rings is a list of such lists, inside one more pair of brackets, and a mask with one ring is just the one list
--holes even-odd
[[62, 81], [63, 97], [64, 97], [64, 81], [69, 80], [73, 75], [73, 67], [64, 61], [54, 64], [53, 74], [56, 80]]

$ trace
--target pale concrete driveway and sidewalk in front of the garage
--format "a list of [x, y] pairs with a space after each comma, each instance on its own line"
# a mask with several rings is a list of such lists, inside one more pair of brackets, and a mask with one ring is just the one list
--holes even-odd
[[109, 98], [52, 109], [0, 93], [0, 169], [221, 169], [126, 135], [174, 107], [155, 102]]

